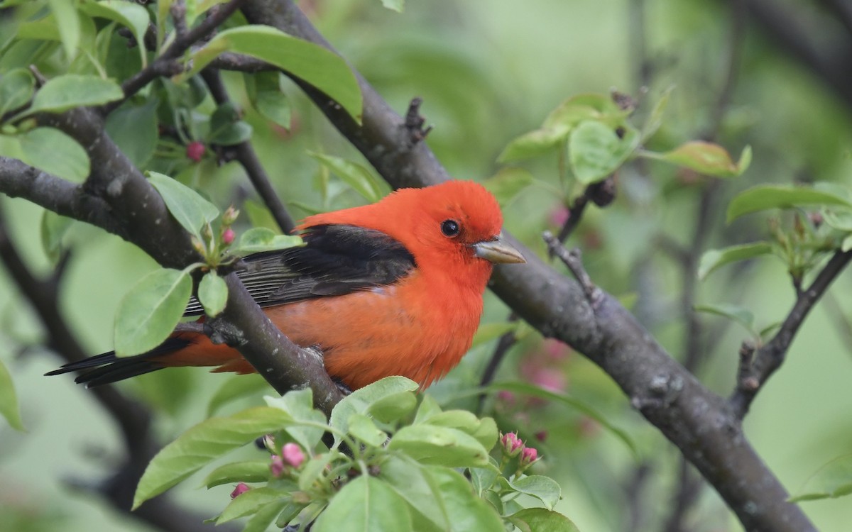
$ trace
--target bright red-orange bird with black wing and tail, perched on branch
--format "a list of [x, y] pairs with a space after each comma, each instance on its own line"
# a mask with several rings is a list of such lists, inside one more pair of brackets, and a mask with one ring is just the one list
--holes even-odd
[[[287, 337], [319, 346], [332, 378], [354, 390], [389, 375], [421, 387], [468, 351], [493, 263], [525, 262], [500, 234], [497, 200], [470, 181], [401, 189], [363, 207], [309, 216], [305, 245], [249, 255], [237, 275]], [[203, 314], [197, 300], [187, 316]], [[47, 375], [82, 371], [98, 386], [170, 366], [253, 373], [239, 352], [176, 333], [151, 352], [104, 353]]]

